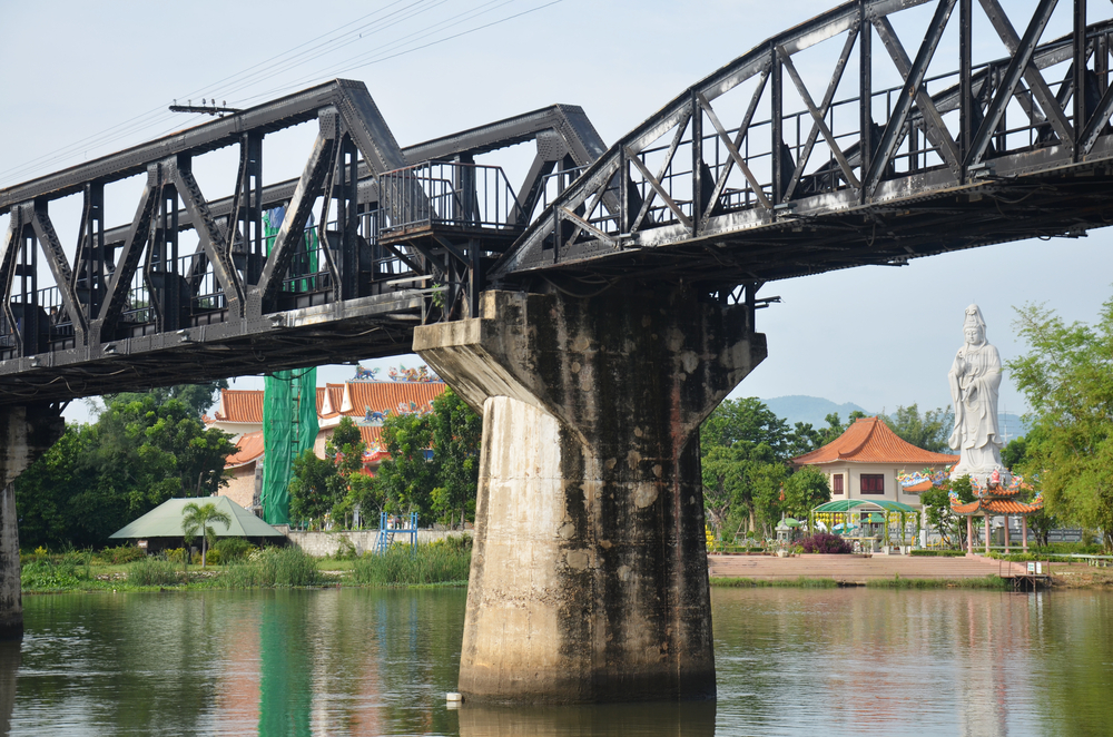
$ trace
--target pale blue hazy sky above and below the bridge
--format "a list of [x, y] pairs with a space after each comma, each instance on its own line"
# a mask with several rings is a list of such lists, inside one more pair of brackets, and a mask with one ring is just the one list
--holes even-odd
[[[1011, 9], [1014, 2], [1032, 4], [1014, 0]], [[834, 4], [0, 0], [9, 30], [0, 68], [11, 72], [0, 77], [0, 187], [203, 121], [167, 112], [174, 100], [247, 107], [334, 77], [363, 80], [403, 146], [554, 102], [581, 106], [609, 145], [687, 86]], [[1091, 4], [1092, 20], [1110, 14], [1107, 3]], [[816, 79], [812, 72], [801, 65], [806, 78]], [[299, 174], [313, 131], [298, 130], [277, 148], [268, 138], [267, 181]], [[511, 153], [508, 168], [523, 160]], [[235, 169], [224, 190], [210, 191], [214, 179], [203, 174], [203, 189], [215, 197], [230, 189]], [[109, 225], [129, 222], [135, 198], [121, 196], [115, 213], [112, 206]], [[63, 243], [76, 237], [67, 240], [56, 226]], [[1013, 322], [1025, 303], [1043, 303], [1067, 322], [1096, 320], [1113, 296], [1111, 238], [1095, 230], [771, 283], [762, 296], [782, 302], [758, 313], [769, 357], [733, 395], [806, 394], [871, 412], [944, 406], [966, 305], [982, 307], [1002, 357], [1016, 357], [1025, 345]], [[364, 365], [385, 373], [417, 361]], [[323, 367], [318, 381], [352, 374], [352, 366]], [[260, 387], [262, 380], [239, 377], [234, 386]], [[1027, 411], [1007, 373], [1001, 409]], [[86, 421], [88, 404], [75, 402], [67, 417]]]

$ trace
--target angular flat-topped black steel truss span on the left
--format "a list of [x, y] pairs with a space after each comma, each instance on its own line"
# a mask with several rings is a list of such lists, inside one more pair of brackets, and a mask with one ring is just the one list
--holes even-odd
[[[265, 185], [264, 138], [314, 119], [318, 134], [302, 176]], [[457, 284], [450, 288], [466, 284], [477, 294], [476, 254], [485, 245], [457, 247], [444, 236], [432, 248], [397, 238], [377, 245], [382, 223], [398, 219], [392, 198], [380, 196], [383, 177], [427, 159], [469, 163], [531, 139], [538, 155], [523, 188], [534, 200], [545, 174], [585, 166], [604, 150], [571, 106], [402, 149], [363, 83], [336, 80], [0, 190], [0, 214], [10, 214], [0, 242], [0, 403], [405, 352], [413, 325], [436, 313], [430, 275], [451, 271]], [[193, 160], [229, 146], [239, 148], [234, 195], [209, 200]], [[131, 223], [107, 227], [106, 185], [137, 174], [145, 184]], [[70, 262], [49, 207], [78, 193], [83, 208]], [[285, 218], [265, 242], [263, 214], [276, 206], [286, 206]], [[520, 232], [532, 208], [533, 200], [511, 193], [505, 223], [496, 225], [516, 223]], [[322, 220], [315, 271], [304, 264], [311, 213]], [[196, 253], [178, 253], [186, 232], [196, 233]], [[53, 277], [46, 289], [40, 254]], [[452, 269], [444, 261], [454, 262]]]

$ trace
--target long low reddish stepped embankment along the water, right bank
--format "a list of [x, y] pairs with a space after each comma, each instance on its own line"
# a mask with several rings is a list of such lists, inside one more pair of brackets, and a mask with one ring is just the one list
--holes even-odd
[[917, 556], [821, 556], [790, 558], [774, 556], [708, 556], [712, 578], [747, 578], [757, 581], [788, 581], [799, 578], [835, 579], [840, 583], [865, 584], [870, 579], [963, 579], [986, 576], [1015, 576], [1025, 571], [1023, 563], [968, 558], [929, 558]]

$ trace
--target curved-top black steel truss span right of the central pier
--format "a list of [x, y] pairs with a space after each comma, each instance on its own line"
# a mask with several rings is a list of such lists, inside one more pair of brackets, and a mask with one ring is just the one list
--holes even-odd
[[[725, 296], [1113, 222], [1113, 12], [1004, 4], [855, 0], [758, 45], [600, 156], [487, 278], [671, 279]], [[915, 24], [898, 20], [917, 6]], [[1056, 8], [1072, 32], [1043, 40]], [[972, 59], [975, 19], [1001, 56]], [[939, 51], [948, 29], [957, 58]], [[878, 89], [893, 69], [899, 83]]]

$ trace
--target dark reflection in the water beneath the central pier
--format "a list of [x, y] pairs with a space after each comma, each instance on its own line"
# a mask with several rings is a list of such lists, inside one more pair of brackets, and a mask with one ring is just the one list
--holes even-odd
[[508, 708], [464, 704], [460, 737], [712, 737], [715, 702]]

